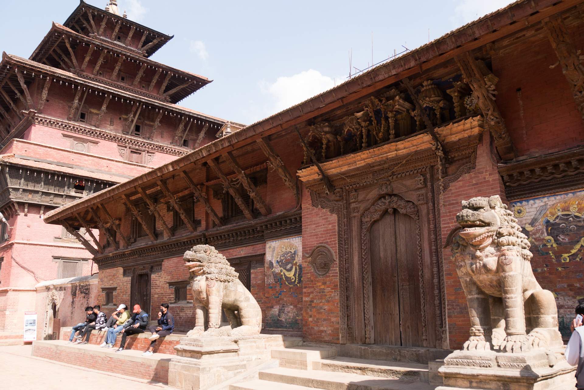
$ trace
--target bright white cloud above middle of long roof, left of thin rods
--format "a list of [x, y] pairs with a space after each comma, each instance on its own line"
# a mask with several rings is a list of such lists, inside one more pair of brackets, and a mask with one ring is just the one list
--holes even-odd
[[274, 112], [289, 108], [335, 86], [332, 78], [314, 69], [290, 77], [278, 77], [272, 84], [266, 81], [258, 84], [264, 94], [272, 95]]

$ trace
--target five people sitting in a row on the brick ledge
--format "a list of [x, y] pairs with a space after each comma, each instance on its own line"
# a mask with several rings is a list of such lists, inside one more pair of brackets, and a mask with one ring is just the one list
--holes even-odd
[[[160, 337], [168, 336], [175, 329], [175, 319], [168, 312], [168, 308], [168, 303], [161, 303], [160, 311], [158, 312], [158, 326], [151, 325], [148, 329], [152, 333], [152, 336], [149, 337], [151, 341], [150, 348], [142, 355], [154, 354], [152, 351], [156, 340]], [[116, 352], [120, 352], [126, 346], [128, 334], [144, 333], [144, 330], [148, 327], [148, 314], [140, 308], [140, 305], [134, 305], [134, 310], [130, 315], [127, 306], [122, 303], [109, 319], [101, 311], [99, 305], [87, 306], [85, 312], [87, 313], [85, 322], [78, 323], [72, 328], [71, 337], [69, 337], [67, 344], [88, 344], [89, 336], [91, 336], [92, 330], [95, 329], [98, 332], [107, 332], [106, 340], [100, 345], [100, 347], [105, 348], [112, 348], [116, 344], [116, 337], [121, 333], [120, 347], [116, 350]], [[79, 333], [79, 336], [75, 336], [75, 333]], [[73, 341], [73, 339], [77, 339], [77, 341]]]

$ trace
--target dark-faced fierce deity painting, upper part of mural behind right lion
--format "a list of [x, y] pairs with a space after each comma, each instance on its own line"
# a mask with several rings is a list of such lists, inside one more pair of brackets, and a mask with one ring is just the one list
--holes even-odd
[[584, 254], [584, 191], [510, 203], [534, 255], [581, 261]]

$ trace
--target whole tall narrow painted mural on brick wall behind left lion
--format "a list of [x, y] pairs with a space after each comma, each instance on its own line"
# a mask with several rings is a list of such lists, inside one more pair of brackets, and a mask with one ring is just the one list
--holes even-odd
[[266, 242], [267, 329], [302, 329], [302, 236]]

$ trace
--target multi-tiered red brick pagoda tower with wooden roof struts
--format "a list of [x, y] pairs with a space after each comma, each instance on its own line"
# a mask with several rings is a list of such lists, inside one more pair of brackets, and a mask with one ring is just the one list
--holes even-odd
[[[97, 230], [47, 225], [44, 213], [243, 127], [176, 104], [212, 80], [150, 59], [171, 39], [120, 15], [115, 0], [105, 10], [81, 1], [29, 58], [2, 54], [0, 345], [23, 342], [36, 284], [97, 272]], [[86, 226], [91, 215], [77, 217]], [[115, 237], [118, 224], [100, 229]]]

